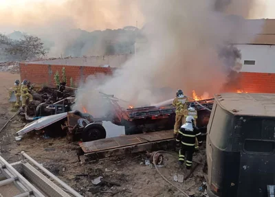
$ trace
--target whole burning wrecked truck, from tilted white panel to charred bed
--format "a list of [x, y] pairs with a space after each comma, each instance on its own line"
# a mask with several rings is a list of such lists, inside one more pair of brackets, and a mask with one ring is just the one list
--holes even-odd
[[[50, 137], [67, 135], [69, 141], [94, 141], [107, 136], [106, 130], [102, 126], [102, 121], [111, 121], [115, 125], [124, 126], [125, 135], [173, 129], [175, 107], [172, 104], [122, 108], [118, 104], [118, 98], [114, 97], [114, 95], [101, 94], [106, 104], [111, 106], [108, 113], [102, 117], [89, 115], [89, 111], [83, 106], [84, 113], [70, 111], [42, 117], [19, 130], [17, 134], [23, 135], [32, 130], [43, 130]], [[197, 126], [201, 129], [201, 132], [206, 132], [213, 102], [214, 99], [211, 98], [196, 102]], [[54, 134], [51, 135], [53, 131]]]

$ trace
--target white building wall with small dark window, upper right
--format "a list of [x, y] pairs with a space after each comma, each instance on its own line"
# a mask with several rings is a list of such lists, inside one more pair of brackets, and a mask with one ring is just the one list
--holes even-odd
[[[275, 45], [235, 45], [241, 50], [241, 72], [275, 73]], [[254, 60], [255, 65], [244, 65]]]

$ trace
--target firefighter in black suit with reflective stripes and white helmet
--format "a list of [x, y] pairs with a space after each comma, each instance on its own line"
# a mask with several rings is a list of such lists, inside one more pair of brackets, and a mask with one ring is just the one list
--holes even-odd
[[[177, 146], [181, 146], [179, 150], [179, 164], [184, 164], [186, 156], [186, 168], [189, 170], [192, 167], [192, 157], [195, 150], [195, 139], [197, 137], [199, 146], [202, 144], [201, 132], [194, 125], [194, 117], [186, 117], [186, 124], [181, 126], [177, 135]], [[181, 144], [180, 144], [181, 143]]]

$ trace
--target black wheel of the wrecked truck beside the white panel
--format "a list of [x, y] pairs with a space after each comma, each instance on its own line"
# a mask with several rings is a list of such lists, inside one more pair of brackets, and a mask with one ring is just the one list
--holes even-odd
[[94, 141], [97, 139], [106, 138], [106, 130], [100, 124], [88, 124], [82, 133], [82, 140], [85, 141]]

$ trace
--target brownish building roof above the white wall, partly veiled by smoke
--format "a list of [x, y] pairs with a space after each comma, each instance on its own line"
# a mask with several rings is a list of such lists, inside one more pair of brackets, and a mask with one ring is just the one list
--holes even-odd
[[236, 36], [234, 44], [275, 45], [275, 19], [248, 19], [245, 22], [249, 34]]

